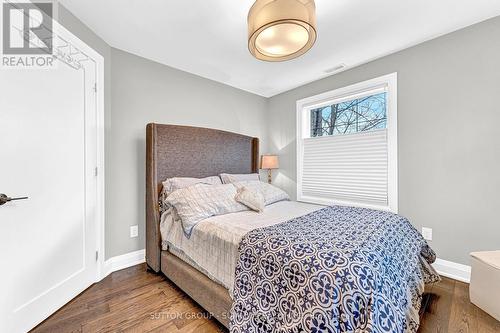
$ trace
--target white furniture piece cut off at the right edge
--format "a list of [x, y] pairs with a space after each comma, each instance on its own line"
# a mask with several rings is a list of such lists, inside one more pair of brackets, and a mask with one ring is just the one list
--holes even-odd
[[500, 251], [472, 252], [470, 300], [500, 320]]

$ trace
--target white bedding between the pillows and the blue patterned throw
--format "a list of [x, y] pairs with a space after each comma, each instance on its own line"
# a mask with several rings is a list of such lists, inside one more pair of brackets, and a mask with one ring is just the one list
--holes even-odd
[[249, 231], [274, 225], [321, 209], [322, 206], [296, 201], [269, 205], [264, 212], [244, 211], [214, 216], [201, 221], [188, 239], [180, 221], [162, 215], [161, 233], [164, 250], [194, 266], [230, 291], [238, 259], [238, 246]]

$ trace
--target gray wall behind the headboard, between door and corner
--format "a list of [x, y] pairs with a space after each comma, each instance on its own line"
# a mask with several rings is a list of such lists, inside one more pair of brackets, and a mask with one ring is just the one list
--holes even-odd
[[[266, 152], [265, 98], [113, 49], [63, 6], [59, 22], [104, 57], [106, 259], [145, 245], [147, 123], [257, 136]], [[130, 238], [136, 224], [139, 237]]]

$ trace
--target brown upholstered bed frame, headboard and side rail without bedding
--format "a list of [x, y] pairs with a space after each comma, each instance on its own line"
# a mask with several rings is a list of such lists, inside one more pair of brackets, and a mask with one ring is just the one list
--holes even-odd
[[229, 327], [232, 299], [222, 285], [162, 250], [159, 196], [171, 177], [208, 177], [258, 171], [259, 139], [215, 129], [148, 124], [146, 127], [146, 262]]

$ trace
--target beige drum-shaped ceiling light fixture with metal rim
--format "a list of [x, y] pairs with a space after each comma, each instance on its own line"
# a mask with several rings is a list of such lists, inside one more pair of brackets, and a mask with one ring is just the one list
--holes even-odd
[[314, 0], [257, 0], [248, 13], [248, 49], [257, 59], [285, 61], [316, 41]]

